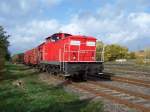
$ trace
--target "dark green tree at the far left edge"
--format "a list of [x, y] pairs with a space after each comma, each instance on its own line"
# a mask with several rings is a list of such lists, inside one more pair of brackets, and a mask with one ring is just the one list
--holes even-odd
[[0, 26], [0, 71], [4, 69], [5, 61], [10, 59], [10, 53], [8, 50], [9, 37], [10, 35], [7, 35], [6, 31], [4, 31], [4, 28]]

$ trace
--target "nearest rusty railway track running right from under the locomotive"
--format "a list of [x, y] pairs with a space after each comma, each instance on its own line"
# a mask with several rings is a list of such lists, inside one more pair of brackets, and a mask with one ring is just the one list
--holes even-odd
[[[60, 77], [56, 78], [62, 80]], [[64, 84], [65, 86], [67, 85], [67, 83]], [[69, 85], [79, 90], [89, 92], [90, 94], [94, 94], [96, 97], [100, 96], [114, 103], [123, 104], [141, 112], [150, 112], [150, 95], [114, 87], [96, 80], [90, 80], [83, 83], [69, 82]]]

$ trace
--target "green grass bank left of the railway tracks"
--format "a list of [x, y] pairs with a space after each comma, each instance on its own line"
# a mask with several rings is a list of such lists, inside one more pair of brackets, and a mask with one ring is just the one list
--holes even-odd
[[[38, 73], [23, 65], [6, 65], [0, 81], [0, 112], [102, 112], [101, 102], [79, 100], [61, 87], [41, 82]], [[14, 84], [22, 81], [22, 86]]]

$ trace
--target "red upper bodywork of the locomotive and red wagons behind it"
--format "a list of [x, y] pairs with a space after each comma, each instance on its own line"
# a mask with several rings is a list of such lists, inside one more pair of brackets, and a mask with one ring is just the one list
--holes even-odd
[[24, 62], [33, 65], [40, 62], [93, 62], [96, 59], [96, 38], [56, 33], [24, 54]]

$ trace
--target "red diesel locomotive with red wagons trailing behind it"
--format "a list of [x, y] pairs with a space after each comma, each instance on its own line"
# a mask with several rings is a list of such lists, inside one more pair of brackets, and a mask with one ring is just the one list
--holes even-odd
[[86, 79], [102, 74], [103, 61], [96, 61], [96, 38], [56, 33], [24, 53], [24, 63], [51, 74]]

